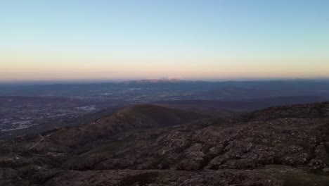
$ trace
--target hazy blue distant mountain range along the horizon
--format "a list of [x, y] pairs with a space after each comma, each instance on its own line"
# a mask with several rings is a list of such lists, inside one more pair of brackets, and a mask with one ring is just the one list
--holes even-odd
[[[175, 93], [180, 94], [175, 94]], [[164, 94], [158, 99], [243, 99], [287, 96], [329, 98], [328, 80], [204, 82], [179, 79], [136, 80], [120, 83], [70, 85], [11, 85], [0, 96], [96, 97], [109, 94]], [[146, 100], [147, 101], [147, 100]]]

